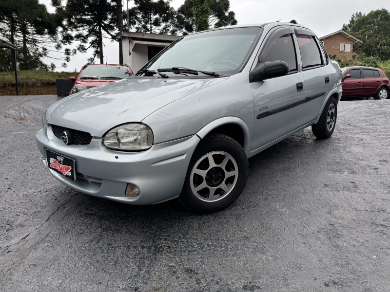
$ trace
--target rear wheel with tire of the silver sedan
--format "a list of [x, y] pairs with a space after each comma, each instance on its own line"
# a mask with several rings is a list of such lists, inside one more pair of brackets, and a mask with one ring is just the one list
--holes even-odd
[[337, 119], [337, 103], [332, 96], [326, 103], [317, 124], [312, 125], [315, 137], [325, 139], [331, 137]]

